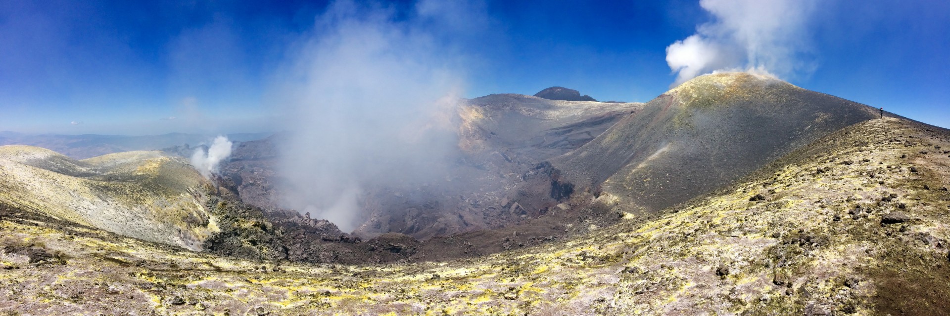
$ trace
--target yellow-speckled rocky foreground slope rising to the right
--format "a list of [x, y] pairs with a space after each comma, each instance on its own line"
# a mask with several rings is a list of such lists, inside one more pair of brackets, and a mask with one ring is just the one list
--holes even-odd
[[0, 311], [941, 315], [943, 148], [950, 131], [862, 121], [675, 208], [539, 247], [413, 265], [243, 261], [3, 208]]

